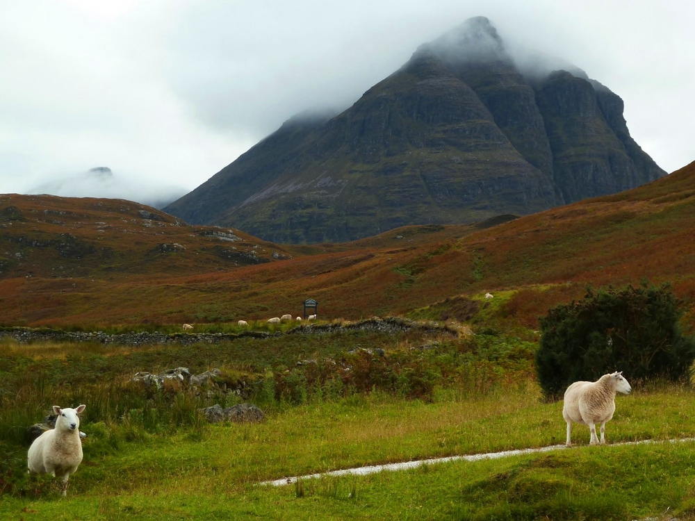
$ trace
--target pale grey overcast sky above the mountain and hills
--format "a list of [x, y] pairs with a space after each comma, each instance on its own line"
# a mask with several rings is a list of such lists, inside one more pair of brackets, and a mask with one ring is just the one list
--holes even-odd
[[0, 192], [183, 195], [479, 15], [619, 94], [667, 172], [695, 160], [687, 0], [0, 0]]

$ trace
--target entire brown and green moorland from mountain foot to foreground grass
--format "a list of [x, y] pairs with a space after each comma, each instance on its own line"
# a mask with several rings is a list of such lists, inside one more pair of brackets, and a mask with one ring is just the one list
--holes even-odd
[[[695, 518], [695, 445], [667, 441], [695, 436], [689, 381], [632, 381], [605, 446], [589, 447], [578, 427], [564, 451], [259, 485], [562, 443], [562, 402], [544, 400], [535, 378], [538, 317], [587, 285], [648, 279], [670, 284], [692, 334], [695, 163], [526, 217], [341, 244], [274, 245], [106, 199], [0, 196], [0, 226], [0, 333], [179, 334], [188, 322], [238, 334], [194, 345], [1, 340], [4, 518]], [[316, 325], [265, 323], [301, 315], [307, 298]], [[263, 334], [241, 335], [240, 319]], [[218, 385], [131, 381], [180, 366], [218, 368]], [[265, 420], [208, 424], [199, 413], [242, 402]], [[79, 403], [85, 459], [61, 499], [54, 481], [24, 472], [26, 427]], [[637, 440], [654, 443], [615, 445]]]

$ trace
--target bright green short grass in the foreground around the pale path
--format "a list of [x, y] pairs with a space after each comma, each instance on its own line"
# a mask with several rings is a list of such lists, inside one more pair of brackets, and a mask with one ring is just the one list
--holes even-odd
[[[692, 390], [680, 386], [623, 397], [608, 424], [608, 440], [692, 436], [692, 403]], [[564, 438], [561, 405], [542, 404], [533, 388], [476, 398], [440, 392], [432, 404], [352, 397], [288, 408], [261, 424], [208, 427], [201, 439], [149, 436], [110, 454], [94, 454], [105, 432], [83, 424], [90, 433], [85, 461], [67, 499], [55, 490], [41, 497], [4, 495], [0, 515], [621, 520], [669, 507], [685, 516], [695, 512], [694, 443], [588, 447], [586, 428], [575, 431], [580, 447], [549, 454], [281, 488], [257, 485], [363, 464], [550, 445]]]

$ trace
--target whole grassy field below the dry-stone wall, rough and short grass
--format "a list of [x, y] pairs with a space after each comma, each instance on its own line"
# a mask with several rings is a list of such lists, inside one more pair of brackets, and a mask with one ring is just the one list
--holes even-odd
[[[288, 333], [194, 347], [3, 342], [0, 448], [7, 460], [0, 463], [0, 518], [631, 520], [668, 508], [695, 519], [695, 443], [610, 445], [695, 436], [695, 392], [685, 383], [635, 382], [632, 395], [616, 399], [603, 447], [589, 447], [588, 429], [576, 426], [578, 447], [563, 451], [259, 485], [360, 465], [562, 443], [562, 403], [541, 399], [532, 376], [534, 345], [500, 331], [455, 338], [418, 330]], [[350, 354], [357, 346], [385, 354]], [[309, 356], [347, 363], [350, 372], [383, 360], [375, 373], [394, 378], [364, 386], [343, 374], [338, 386], [338, 372], [313, 374], [296, 365]], [[127, 381], [136, 370], [173, 365], [193, 372], [220, 366], [226, 381], [254, 381], [245, 400], [261, 406], [265, 420], [207, 424], [197, 408], [219, 395], [186, 388], [148, 395]], [[432, 386], [409, 397], [425, 374]], [[51, 479], [24, 474], [18, 427], [40, 420], [54, 402], [88, 405], [85, 459], [67, 498]]]

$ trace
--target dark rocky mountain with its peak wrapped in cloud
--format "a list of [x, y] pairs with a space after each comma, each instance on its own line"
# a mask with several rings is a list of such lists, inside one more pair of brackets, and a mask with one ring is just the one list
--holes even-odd
[[616, 94], [523, 58], [469, 19], [343, 113], [290, 119], [165, 211], [274, 242], [339, 242], [526, 215], [665, 174]]

